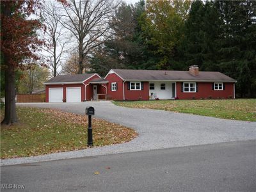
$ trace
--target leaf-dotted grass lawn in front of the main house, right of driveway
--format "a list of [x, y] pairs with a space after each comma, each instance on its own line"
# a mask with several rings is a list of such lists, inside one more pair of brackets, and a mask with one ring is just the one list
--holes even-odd
[[230, 100], [147, 100], [113, 102], [127, 108], [163, 109], [179, 113], [214, 116], [231, 120], [256, 121], [256, 99]]

